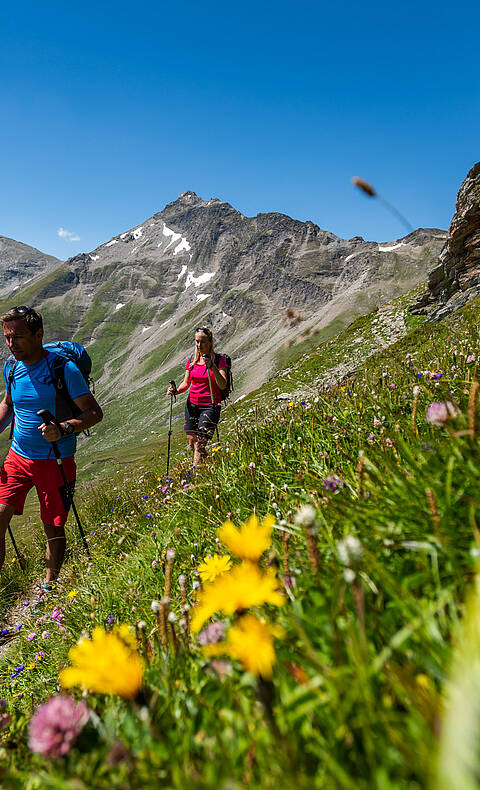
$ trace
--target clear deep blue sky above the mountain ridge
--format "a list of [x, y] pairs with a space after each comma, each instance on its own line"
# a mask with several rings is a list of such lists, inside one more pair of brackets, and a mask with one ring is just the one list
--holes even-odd
[[9, 5], [0, 234], [62, 259], [187, 189], [403, 236], [354, 175], [414, 227], [447, 228], [480, 159], [477, 3]]

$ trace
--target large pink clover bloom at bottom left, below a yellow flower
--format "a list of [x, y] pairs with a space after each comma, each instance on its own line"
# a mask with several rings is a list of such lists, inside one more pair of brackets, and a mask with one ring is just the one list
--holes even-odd
[[32, 752], [44, 757], [62, 757], [68, 754], [89, 718], [85, 700], [77, 705], [71, 697], [50, 697], [30, 721], [28, 745]]

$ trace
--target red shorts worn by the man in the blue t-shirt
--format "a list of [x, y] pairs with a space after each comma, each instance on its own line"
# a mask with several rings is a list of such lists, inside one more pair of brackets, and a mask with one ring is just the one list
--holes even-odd
[[[73, 494], [77, 467], [73, 455], [62, 459], [63, 468]], [[10, 450], [0, 470], [0, 502], [15, 508], [21, 516], [31, 488], [37, 489], [40, 517], [44, 524], [63, 527], [70, 503], [62, 473], [55, 458], [30, 460]]]

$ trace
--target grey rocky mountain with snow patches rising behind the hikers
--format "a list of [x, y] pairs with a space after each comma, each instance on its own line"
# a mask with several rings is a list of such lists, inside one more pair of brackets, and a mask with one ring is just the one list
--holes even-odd
[[[313, 222], [245, 217], [187, 191], [142, 225], [70, 258], [35, 303], [49, 337], [74, 335], [91, 346], [107, 398], [183, 375], [193, 331], [204, 323], [217, 350], [234, 358], [245, 390], [268, 377], [286, 341], [333, 321], [346, 325], [424, 281], [445, 237], [419, 229], [391, 243], [345, 240]], [[300, 320], [285, 322], [288, 309]]]

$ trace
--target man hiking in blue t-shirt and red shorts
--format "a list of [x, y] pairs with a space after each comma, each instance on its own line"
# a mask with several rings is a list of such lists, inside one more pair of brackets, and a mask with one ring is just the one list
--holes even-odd
[[47, 536], [45, 582], [39, 600], [50, 592], [65, 556], [65, 523], [70, 498], [65, 491], [61, 470], [53, 455], [52, 442], [58, 442], [63, 468], [73, 492], [75, 485], [76, 433], [91, 428], [103, 417], [88, 384], [74, 362], [65, 363], [64, 379], [68, 394], [79, 415], [60, 428], [46, 425], [37, 412], [48, 409], [56, 414], [57, 389], [52, 377], [56, 355], [43, 348], [43, 321], [40, 313], [22, 305], [0, 318], [5, 341], [14, 357], [4, 365], [6, 392], [0, 402], [0, 432], [14, 421], [11, 448], [0, 470], [0, 569], [5, 560], [5, 534], [13, 515], [21, 516], [25, 499], [33, 486], [40, 501], [40, 516]]

